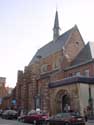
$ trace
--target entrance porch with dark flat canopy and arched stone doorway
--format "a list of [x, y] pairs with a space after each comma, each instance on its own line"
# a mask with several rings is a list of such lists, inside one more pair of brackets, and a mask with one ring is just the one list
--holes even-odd
[[68, 105], [71, 110], [79, 111], [82, 115], [84, 114], [84, 109], [91, 107], [90, 115], [93, 115], [94, 77], [68, 77], [60, 81], [51, 82], [48, 87], [50, 92], [53, 89], [54, 93], [56, 93], [53, 96], [56, 112], [64, 111], [66, 105]]

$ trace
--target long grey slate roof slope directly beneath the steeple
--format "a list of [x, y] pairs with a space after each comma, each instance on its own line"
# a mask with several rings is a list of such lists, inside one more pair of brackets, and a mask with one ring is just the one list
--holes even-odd
[[43, 46], [42, 48], [40, 48], [35, 56], [32, 58], [31, 62], [29, 63], [29, 65], [33, 64], [35, 61], [37, 61], [37, 57], [41, 56], [42, 58], [46, 58], [47, 56], [60, 51], [63, 46], [65, 45], [65, 43], [68, 43], [69, 38], [71, 36], [71, 34], [75, 31], [78, 30], [77, 26], [75, 25], [74, 27], [72, 27], [70, 30], [68, 30], [67, 32], [63, 33], [62, 35], [60, 35], [56, 41], [51, 41], [48, 44], [46, 44], [45, 46]]

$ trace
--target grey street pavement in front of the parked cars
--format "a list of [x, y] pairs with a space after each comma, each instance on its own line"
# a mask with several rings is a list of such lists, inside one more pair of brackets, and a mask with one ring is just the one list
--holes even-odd
[[[5, 120], [5, 119], [0, 118], [0, 125], [31, 125], [31, 124], [21, 123], [17, 120]], [[86, 125], [94, 125], [94, 122], [93, 123], [87, 122]]]

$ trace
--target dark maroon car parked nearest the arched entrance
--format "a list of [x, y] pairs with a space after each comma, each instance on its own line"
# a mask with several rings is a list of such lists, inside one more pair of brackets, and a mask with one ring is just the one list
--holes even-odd
[[78, 113], [58, 113], [47, 120], [49, 125], [85, 125], [84, 117]]

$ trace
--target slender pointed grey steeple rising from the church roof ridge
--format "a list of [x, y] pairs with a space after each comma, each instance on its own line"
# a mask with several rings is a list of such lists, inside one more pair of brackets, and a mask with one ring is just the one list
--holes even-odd
[[59, 20], [58, 20], [58, 12], [56, 10], [54, 28], [53, 28], [53, 40], [55, 41], [59, 37]]

